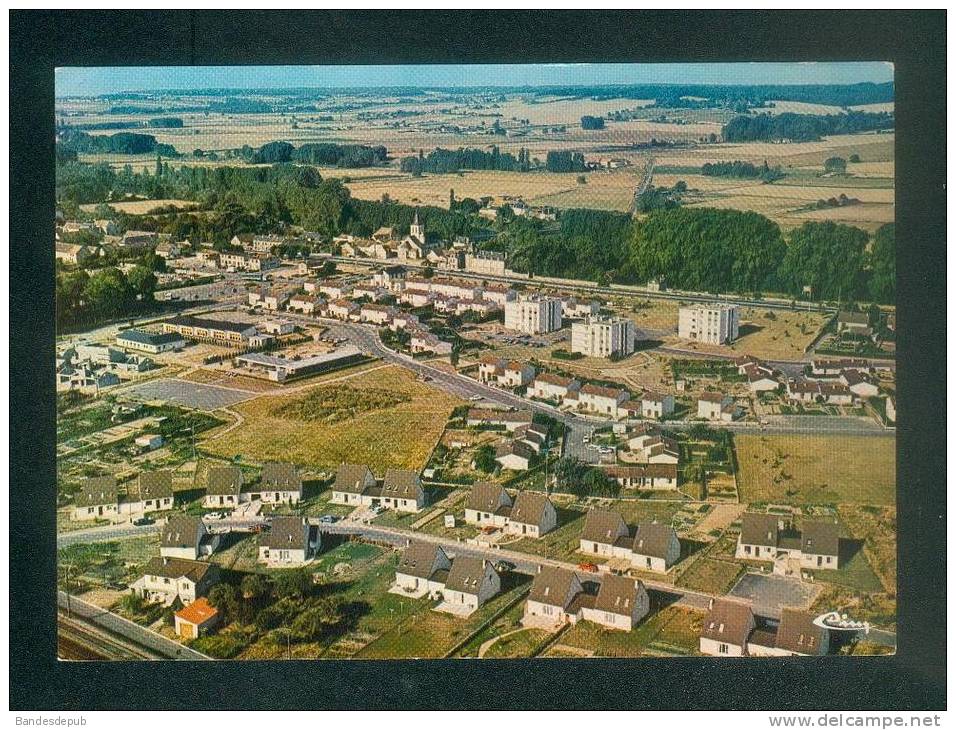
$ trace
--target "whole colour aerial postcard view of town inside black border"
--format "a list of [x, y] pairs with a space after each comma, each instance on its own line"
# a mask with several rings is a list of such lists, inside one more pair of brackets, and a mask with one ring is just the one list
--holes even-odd
[[60, 659], [896, 652], [891, 64], [55, 114]]

